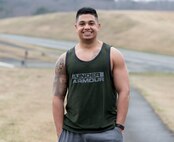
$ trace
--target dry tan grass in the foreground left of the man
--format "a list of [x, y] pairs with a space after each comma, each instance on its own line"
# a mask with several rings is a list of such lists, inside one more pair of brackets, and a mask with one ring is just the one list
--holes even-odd
[[0, 141], [56, 141], [53, 70], [0, 68]]

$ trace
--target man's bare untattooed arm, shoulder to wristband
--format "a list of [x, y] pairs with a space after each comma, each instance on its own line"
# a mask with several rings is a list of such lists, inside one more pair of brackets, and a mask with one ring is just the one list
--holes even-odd
[[129, 105], [129, 78], [124, 57], [113, 47], [111, 48], [111, 68], [114, 85], [118, 92], [116, 123], [124, 125]]

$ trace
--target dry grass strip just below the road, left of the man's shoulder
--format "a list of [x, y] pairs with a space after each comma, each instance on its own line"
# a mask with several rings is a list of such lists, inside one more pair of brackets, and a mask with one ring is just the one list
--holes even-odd
[[57, 57], [64, 52], [63, 50], [43, 48], [43, 47], [23, 44], [23, 43], [11, 41], [11, 40], [1, 39], [0, 43], [1, 41], [19, 46], [19, 47], [13, 47], [11, 45], [0, 44], [1, 59], [24, 60], [25, 51], [28, 51], [27, 60], [55, 62]]

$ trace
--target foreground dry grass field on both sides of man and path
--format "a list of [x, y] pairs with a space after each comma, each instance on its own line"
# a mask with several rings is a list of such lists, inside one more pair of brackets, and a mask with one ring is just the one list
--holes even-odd
[[[51, 113], [54, 70], [0, 72], [0, 142], [56, 141]], [[130, 80], [174, 131], [174, 74], [130, 74]]]

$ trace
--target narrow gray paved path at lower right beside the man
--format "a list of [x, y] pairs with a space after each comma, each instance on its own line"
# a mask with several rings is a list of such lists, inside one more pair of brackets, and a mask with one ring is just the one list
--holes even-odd
[[125, 142], [174, 142], [174, 134], [134, 88], [131, 90]]

